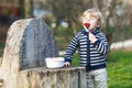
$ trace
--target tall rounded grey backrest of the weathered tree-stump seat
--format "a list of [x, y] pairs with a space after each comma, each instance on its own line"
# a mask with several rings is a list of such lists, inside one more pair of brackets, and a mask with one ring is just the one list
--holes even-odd
[[20, 20], [9, 29], [3, 64], [19, 58], [20, 69], [40, 67], [45, 65], [45, 57], [57, 55], [53, 34], [42, 20]]

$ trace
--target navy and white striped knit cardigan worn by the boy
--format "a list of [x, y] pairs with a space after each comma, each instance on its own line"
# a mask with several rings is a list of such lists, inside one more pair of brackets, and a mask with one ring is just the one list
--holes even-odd
[[86, 70], [106, 67], [106, 54], [108, 53], [106, 35], [100, 30], [91, 33], [97, 38], [95, 43], [90, 43], [86, 30], [81, 30], [74, 36], [66, 50], [65, 62], [72, 63], [74, 53], [79, 48], [79, 64], [86, 66]]

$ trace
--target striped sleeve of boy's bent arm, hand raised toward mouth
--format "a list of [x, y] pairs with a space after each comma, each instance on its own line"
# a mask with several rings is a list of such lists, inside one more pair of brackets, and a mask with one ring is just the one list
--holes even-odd
[[109, 51], [108, 41], [107, 41], [107, 37], [103, 33], [101, 33], [100, 37], [97, 38], [97, 41], [95, 42], [94, 45], [99, 53], [107, 54]]

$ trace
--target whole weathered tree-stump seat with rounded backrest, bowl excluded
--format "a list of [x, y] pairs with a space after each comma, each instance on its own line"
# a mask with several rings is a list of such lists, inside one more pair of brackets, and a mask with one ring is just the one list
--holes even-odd
[[85, 88], [85, 67], [45, 68], [45, 57], [58, 56], [56, 47], [42, 20], [14, 22], [0, 67], [0, 88]]

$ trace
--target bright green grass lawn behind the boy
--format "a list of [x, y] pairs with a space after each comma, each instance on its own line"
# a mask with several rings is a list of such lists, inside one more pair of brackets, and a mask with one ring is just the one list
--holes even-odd
[[[77, 66], [75, 55], [72, 65]], [[132, 52], [112, 52], [107, 61], [109, 88], [132, 88]]]

